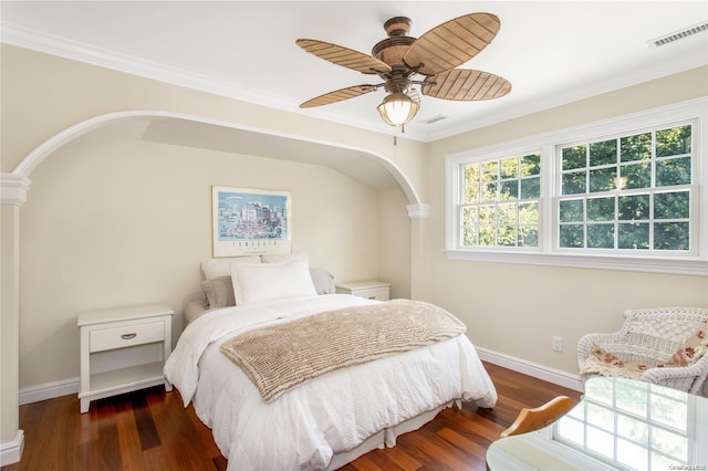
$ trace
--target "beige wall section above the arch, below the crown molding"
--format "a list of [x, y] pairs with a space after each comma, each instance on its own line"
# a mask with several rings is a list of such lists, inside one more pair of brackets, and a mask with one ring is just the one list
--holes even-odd
[[77, 123], [108, 113], [150, 109], [363, 149], [398, 166], [416, 191], [425, 196], [426, 146], [403, 136], [394, 146], [388, 134], [285, 113], [7, 44], [1, 44], [1, 54], [2, 172], [12, 171], [39, 145]]

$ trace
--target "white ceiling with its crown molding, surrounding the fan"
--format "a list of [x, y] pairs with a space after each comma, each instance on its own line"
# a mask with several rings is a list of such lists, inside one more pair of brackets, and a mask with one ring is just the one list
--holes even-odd
[[[647, 42], [708, 21], [701, 1], [2, 1], [3, 42], [389, 134], [378, 91], [319, 108], [299, 104], [376, 83], [295, 45], [317, 39], [369, 54], [383, 23], [410, 35], [465, 13], [501, 20], [465, 69], [501, 75], [509, 95], [488, 102], [421, 97], [406, 137], [430, 142], [527, 113], [708, 64], [708, 32]], [[434, 124], [424, 122], [442, 115]]]

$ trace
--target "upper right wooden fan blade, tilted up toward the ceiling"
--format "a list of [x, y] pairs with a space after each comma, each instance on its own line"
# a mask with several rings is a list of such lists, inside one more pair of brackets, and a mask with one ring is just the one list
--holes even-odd
[[501, 23], [491, 13], [471, 13], [435, 27], [418, 38], [404, 55], [410, 67], [435, 75], [455, 69], [477, 55], [497, 35]]

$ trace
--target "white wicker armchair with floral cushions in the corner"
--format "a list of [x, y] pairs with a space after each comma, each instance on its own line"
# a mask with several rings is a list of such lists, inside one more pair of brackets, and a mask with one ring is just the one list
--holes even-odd
[[622, 376], [701, 393], [708, 376], [708, 308], [629, 310], [624, 317], [616, 333], [580, 338], [582, 377]]

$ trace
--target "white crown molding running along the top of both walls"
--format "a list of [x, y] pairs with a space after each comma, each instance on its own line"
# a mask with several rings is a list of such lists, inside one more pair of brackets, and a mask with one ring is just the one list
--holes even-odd
[[[133, 55], [116, 53], [107, 49], [48, 34], [17, 24], [0, 22], [0, 32], [2, 33], [1, 42], [19, 48], [30, 49], [232, 100], [306, 115], [317, 119], [324, 119], [375, 133], [391, 134], [391, 127], [384, 123], [381, 125], [372, 125], [372, 123], [366, 121], [353, 118], [351, 116], [326, 109], [309, 109], [308, 113], [305, 113], [300, 108], [299, 103], [282, 95], [247, 88], [232, 82], [196, 74], [157, 62], [145, 61]], [[429, 133], [408, 129], [405, 137], [410, 140], [431, 143], [485, 126], [539, 113], [544, 109], [566, 105], [569, 103], [590, 98], [603, 93], [610, 93], [615, 90], [637, 85], [705, 65], [708, 65], [708, 60], [702, 54], [677, 55], [671, 60], [662, 61], [660, 63], [657, 62], [656, 64], [653, 64], [652, 67], [641, 67], [632, 73], [614, 75], [611, 78], [589, 81], [572, 91], [566, 91], [564, 93], [554, 91], [551, 95], [539, 97], [538, 100], [533, 100], [524, 104], [517, 103], [512, 106], [496, 111], [493, 116], [486, 115], [477, 119], [469, 119], [458, 126], [445, 127], [444, 129]]]

